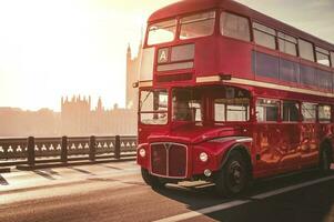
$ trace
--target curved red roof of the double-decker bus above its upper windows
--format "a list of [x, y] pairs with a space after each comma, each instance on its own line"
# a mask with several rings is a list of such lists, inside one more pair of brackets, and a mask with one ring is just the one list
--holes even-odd
[[153, 12], [149, 18], [149, 23], [168, 19], [168, 18], [173, 18], [180, 14], [186, 14], [191, 12], [203, 11], [203, 10], [209, 10], [214, 8], [222, 8], [237, 14], [243, 14], [245, 17], [251, 18], [253, 21], [257, 21], [273, 29], [286, 32], [287, 34], [308, 40], [318, 47], [326, 48], [327, 50], [332, 50], [332, 51], [334, 50], [334, 44], [327, 41], [324, 41], [317, 37], [314, 37], [310, 33], [306, 33], [302, 30], [298, 30], [292, 26], [289, 26], [282, 21], [273, 19], [269, 16], [265, 16], [261, 12], [257, 12], [249, 7], [245, 7], [232, 0], [195, 0], [195, 1], [181, 0], [176, 3], [166, 6]]

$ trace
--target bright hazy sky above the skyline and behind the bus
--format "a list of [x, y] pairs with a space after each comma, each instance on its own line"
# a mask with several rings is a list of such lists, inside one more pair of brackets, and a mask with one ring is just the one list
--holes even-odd
[[[239, 1], [334, 42], [334, 0]], [[123, 107], [128, 42], [170, 2], [0, 0], [0, 107], [59, 110], [73, 94]]]

